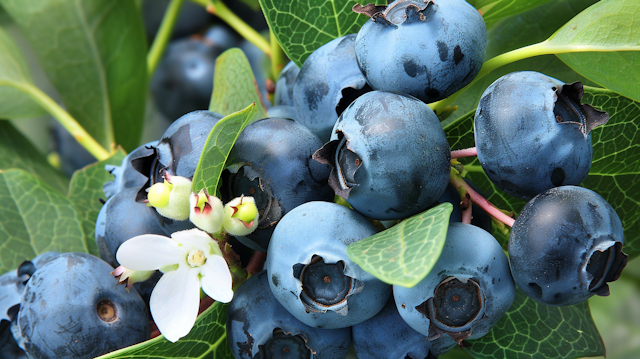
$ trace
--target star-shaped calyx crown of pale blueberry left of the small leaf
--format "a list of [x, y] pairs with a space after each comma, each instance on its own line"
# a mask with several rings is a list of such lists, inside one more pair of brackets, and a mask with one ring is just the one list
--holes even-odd
[[300, 300], [307, 313], [325, 313], [328, 310], [346, 316], [347, 298], [362, 291], [364, 283], [344, 274], [345, 263], [325, 263], [324, 258], [313, 255], [309, 264], [293, 266], [293, 275], [302, 283]]

